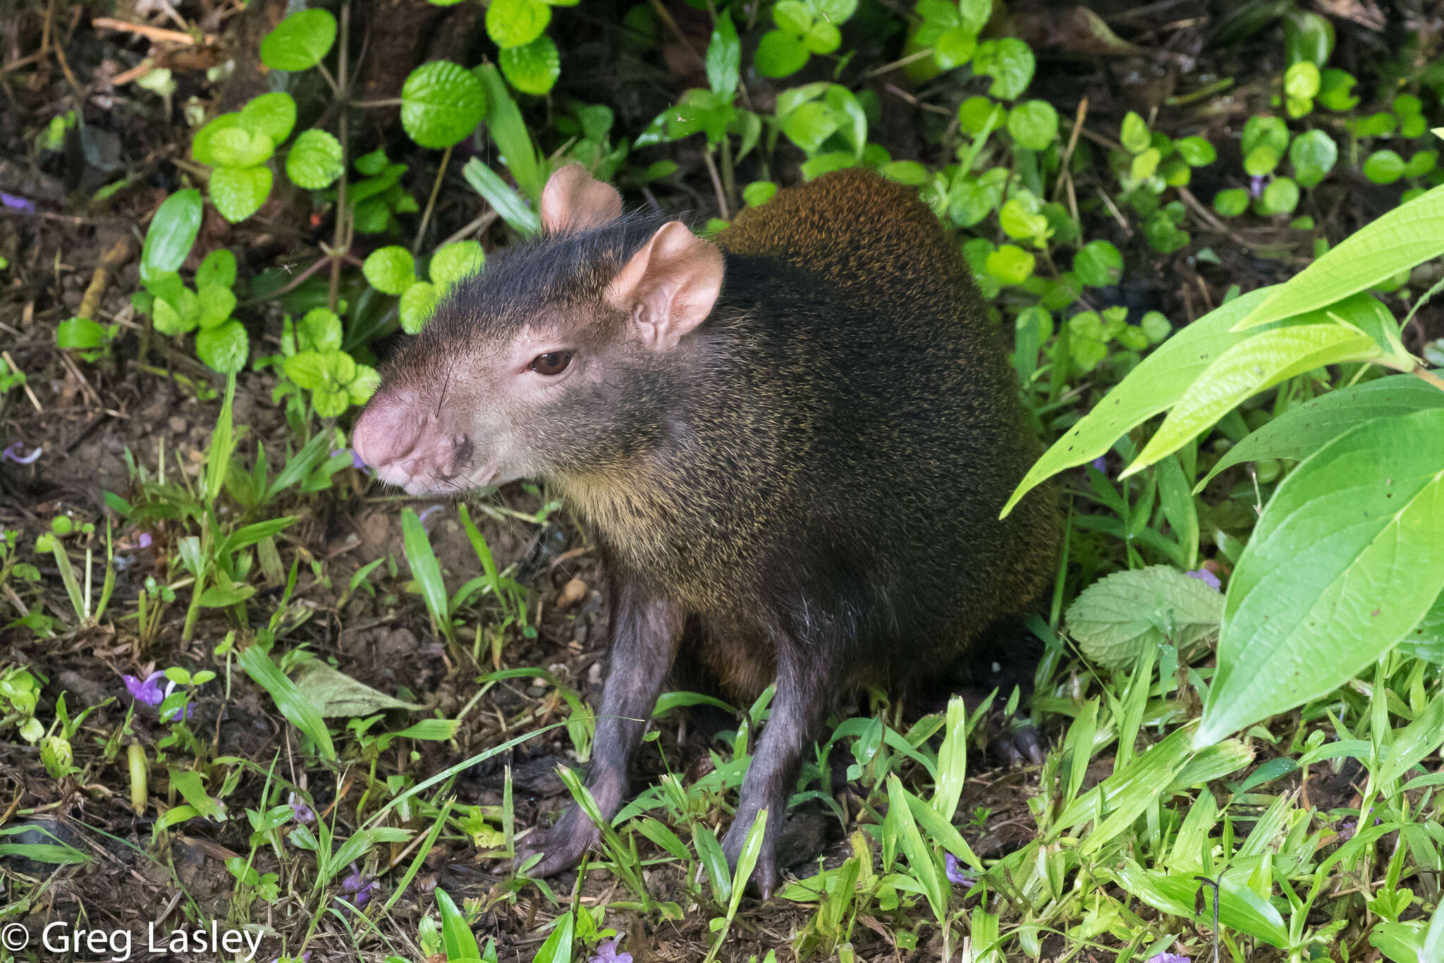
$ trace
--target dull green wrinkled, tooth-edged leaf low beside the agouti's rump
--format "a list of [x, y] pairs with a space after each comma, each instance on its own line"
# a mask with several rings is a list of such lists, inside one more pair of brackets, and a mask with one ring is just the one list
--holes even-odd
[[1079, 648], [1106, 668], [1129, 668], [1165, 640], [1191, 645], [1217, 631], [1223, 596], [1165, 565], [1115, 572], [1079, 593], [1066, 627]]

